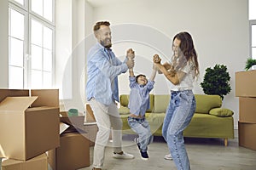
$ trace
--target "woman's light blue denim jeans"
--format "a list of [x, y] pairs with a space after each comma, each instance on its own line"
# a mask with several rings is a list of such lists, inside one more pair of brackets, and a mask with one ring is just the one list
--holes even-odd
[[189, 170], [189, 157], [185, 149], [183, 130], [188, 127], [195, 112], [195, 96], [192, 90], [172, 92], [166, 110], [162, 134], [168, 144], [178, 170]]

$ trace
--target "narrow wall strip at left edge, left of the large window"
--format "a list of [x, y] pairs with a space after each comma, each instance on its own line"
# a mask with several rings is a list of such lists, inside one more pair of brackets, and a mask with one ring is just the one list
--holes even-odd
[[8, 0], [0, 1], [0, 88], [8, 88]]

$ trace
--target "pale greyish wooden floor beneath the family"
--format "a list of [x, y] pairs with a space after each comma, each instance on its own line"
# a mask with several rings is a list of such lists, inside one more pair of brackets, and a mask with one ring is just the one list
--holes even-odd
[[[123, 150], [133, 154], [135, 159], [114, 159], [109, 143], [103, 170], [176, 169], [173, 161], [164, 159], [168, 154], [168, 148], [162, 137], [155, 137], [154, 143], [148, 146], [148, 161], [140, 158], [137, 145], [133, 142], [134, 137], [134, 135], [123, 137]], [[185, 139], [185, 144], [192, 170], [256, 170], [256, 151], [239, 146], [237, 137], [230, 139], [227, 147], [224, 146], [222, 139]], [[93, 147], [90, 148], [90, 164], [92, 155]], [[79, 170], [91, 170], [91, 166]]]

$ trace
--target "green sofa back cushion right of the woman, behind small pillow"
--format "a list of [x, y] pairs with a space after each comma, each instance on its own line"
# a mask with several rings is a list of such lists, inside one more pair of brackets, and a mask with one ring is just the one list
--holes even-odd
[[219, 95], [195, 94], [196, 113], [206, 113], [213, 108], [221, 107], [222, 100]]

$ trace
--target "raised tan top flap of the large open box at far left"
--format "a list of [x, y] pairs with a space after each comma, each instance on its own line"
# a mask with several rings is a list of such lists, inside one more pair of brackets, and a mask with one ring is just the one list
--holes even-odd
[[26, 111], [38, 99], [34, 97], [7, 97], [0, 103], [0, 111]]

